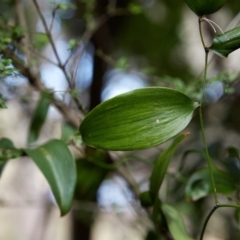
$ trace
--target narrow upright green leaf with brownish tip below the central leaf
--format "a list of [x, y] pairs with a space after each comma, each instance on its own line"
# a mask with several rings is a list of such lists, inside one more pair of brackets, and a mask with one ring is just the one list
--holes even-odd
[[150, 193], [151, 193], [153, 200], [155, 200], [158, 197], [159, 189], [162, 185], [163, 178], [166, 175], [168, 165], [172, 159], [174, 152], [176, 151], [180, 142], [186, 136], [188, 136], [187, 133], [184, 133], [184, 134], [178, 136], [173, 141], [173, 143], [161, 153], [160, 157], [158, 158], [157, 162], [155, 163], [155, 166], [152, 171], [152, 175], [150, 177]]

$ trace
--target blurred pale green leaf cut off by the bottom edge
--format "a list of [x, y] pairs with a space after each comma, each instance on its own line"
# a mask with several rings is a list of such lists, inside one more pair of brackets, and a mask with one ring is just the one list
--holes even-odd
[[193, 240], [188, 236], [182, 217], [175, 208], [168, 204], [163, 204], [162, 210], [174, 240]]

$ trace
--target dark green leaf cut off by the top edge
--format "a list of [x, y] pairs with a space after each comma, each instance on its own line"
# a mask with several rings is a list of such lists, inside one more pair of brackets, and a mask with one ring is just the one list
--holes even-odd
[[217, 12], [226, 0], [185, 0], [185, 2], [194, 13], [201, 17]]

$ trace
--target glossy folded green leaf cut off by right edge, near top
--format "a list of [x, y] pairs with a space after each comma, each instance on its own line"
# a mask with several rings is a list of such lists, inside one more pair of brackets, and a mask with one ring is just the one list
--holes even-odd
[[221, 57], [227, 57], [238, 48], [240, 48], [240, 27], [215, 36], [209, 49]]

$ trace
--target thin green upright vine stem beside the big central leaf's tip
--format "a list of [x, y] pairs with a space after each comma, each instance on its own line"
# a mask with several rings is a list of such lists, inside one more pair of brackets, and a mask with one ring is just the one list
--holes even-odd
[[205, 93], [205, 86], [206, 86], [206, 81], [207, 81], [207, 68], [208, 68], [208, 54], [209, 54], [209, 49], [207, 48], [204, 38], [203, 38], [203, 32], [202, 32], [202, 18], [200, 17], [198, 20], [199, 23], [199, 32], [200, 32], [200, 37], [202, 41], [203, 48], [205, 50], [205, 64], [204, 64], [204, 76], [203, 76], [203, 86], [202, 86], [202, 94], [201, 94], [201, 100], [200, 100], [200, 107], [199, 107], [199, 116], [200, 116], [200, 125], [201, 125], [201, 133], [202, 133], [202, 139], [203, 139], [203, 144], [206, 152], [206, 158], [207, 158], [207, 163], [208, 163], [208, 169], [212, 181], [212, 186], [213, 186], [213, 194], [214, 194], [214, 200], [215, 200], [215, 207], [218, 206], [218, 196], [217, 196], [217, 189], [216, 189], [216, 184], [215, 180], [213, 177], [213, 170], [212, 170], [212, 162], [209, 157], [209, 152], [208, 152], [208, 146], [207, 146], [207, 140], [205, 136], [205, 131], [204, 131], [204, 124], [203, 124], [203, 114], [202, 114], [202, 105], [203, 105], [203, 97]]

